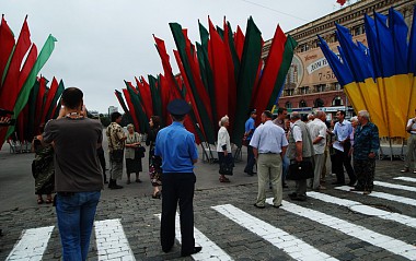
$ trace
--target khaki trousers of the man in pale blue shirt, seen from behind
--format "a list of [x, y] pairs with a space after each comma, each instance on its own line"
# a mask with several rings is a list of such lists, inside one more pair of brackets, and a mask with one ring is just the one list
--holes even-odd
[[256, 204], [265, 205], [266, 188], [271, 182], [274, 194], [273, 204], [280, 205], [282, 200], [281, 187], [281, 156], [280, 154], [258, 154], [257, 159], [257, 179], [258, 194]]

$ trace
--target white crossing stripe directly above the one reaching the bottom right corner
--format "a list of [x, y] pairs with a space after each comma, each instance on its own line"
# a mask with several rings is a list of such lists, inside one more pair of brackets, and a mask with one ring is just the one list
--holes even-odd
[[403, 225], [416, 228], [416, 218], [411, 216], [379, 210], [369, 205], [365, 205], [357, 201], [338, 199], [324, 193], [308, 192], [308, 195], [316, 200], [349, 207], [351, 211], [359, 212], [365, 215], [378, 216], [386, 221], [397, 222]]

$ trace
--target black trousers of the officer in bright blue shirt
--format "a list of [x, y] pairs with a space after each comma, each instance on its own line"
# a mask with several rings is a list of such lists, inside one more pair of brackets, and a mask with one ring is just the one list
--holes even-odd
[[193, 173], [162, 174], [162, 221], [160, 239], [163, 250], [175, 241], [176, 207], [180, 205], [182, 253], [194, 250], [194, 191], [196, 177]]

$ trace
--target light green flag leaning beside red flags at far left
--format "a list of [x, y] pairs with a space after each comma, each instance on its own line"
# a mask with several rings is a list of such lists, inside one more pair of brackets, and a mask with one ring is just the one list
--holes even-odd
[[[28, 76], [26, 81], [23, 84], [23, 87], [19, 94], [18, 100], [14, 105], [14, 117], [18, 118], [20, 111], [24, 108], [24, 106], [27, 103], [28, 95], [31, 94], [32, 87], [36, 81], [36, 75], [39, 73], [41, 69], [45, 66], [46, 61], [49, 59], [51, 52], [55, 49], [55, 41], [57, 39], [53, 36], [49, 35], [49, 37], [46, 39], [44, 47], [42, 47], [42, 50], [39, 52], [39, 56], [36, 59], [35, 64], [33, 66], [31, 72], [28, 73]], [[8, 129], [8, 133], [5, 134], [5, 138], [8, 138], [11, 133], [14, 131], [14, 126], [11, 126]]]

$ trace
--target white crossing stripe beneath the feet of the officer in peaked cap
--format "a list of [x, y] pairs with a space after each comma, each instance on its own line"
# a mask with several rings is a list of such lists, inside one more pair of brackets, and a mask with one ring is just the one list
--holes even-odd
[[[161, 214], [155, 214], [159, 220], [162, 218]], [[175, 221], [175, 235], [178, 241], [182, 241], [181, 237], [181, 221], [180, 215], [176, 213]], [[203, 250], [198, 253], [194, 253], [192, 258], [194, 260], [220, 260], [220, 261], [231, 261], [233, 260], [227, 252], [224, 252], [220, 247], [218, 247], [213, 241], [206, 237], [201, 232], [194, 227], [195, 244], [203, 247]]]

